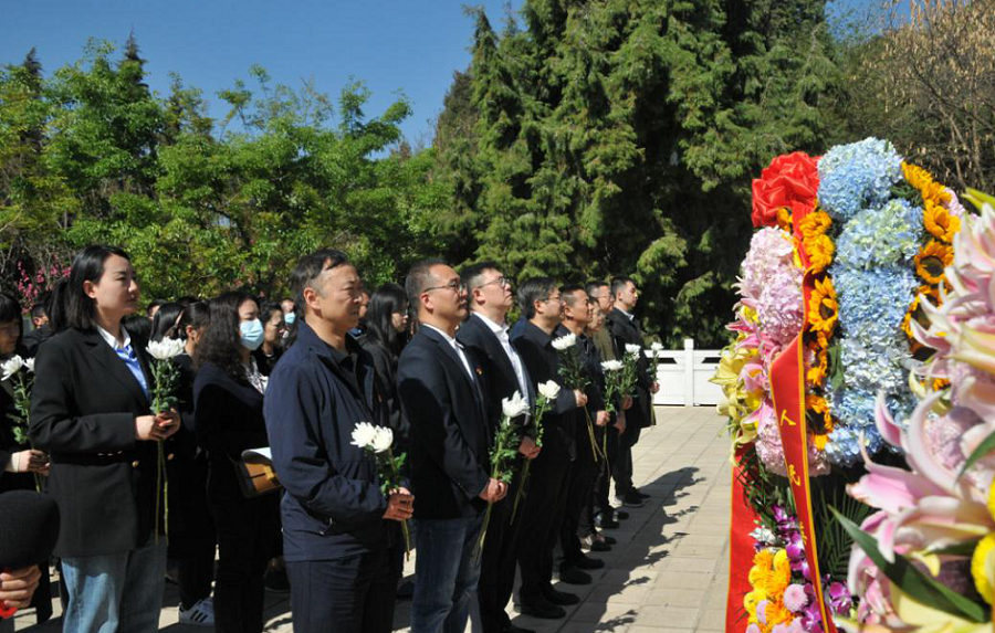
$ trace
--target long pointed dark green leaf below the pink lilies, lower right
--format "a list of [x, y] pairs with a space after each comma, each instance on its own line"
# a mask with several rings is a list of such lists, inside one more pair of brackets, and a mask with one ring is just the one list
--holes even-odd
[[853, 542], [860, 546], [860, 549], [870, 557], [878, 569], [910, 598], [963, 620], [978, 623], [988, 622], [986, 608], [936, 582], [898, 553], [894, 555], [894, 562], [888, 562], [878, 549], [874, 537], [861, 530], [857, 524], [842, 516], [836, 508], [830, 507], [829, 509], [832, 510], [836, 520], [850, 534]]

